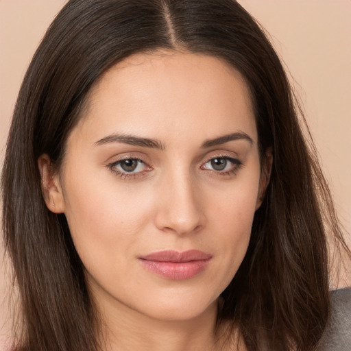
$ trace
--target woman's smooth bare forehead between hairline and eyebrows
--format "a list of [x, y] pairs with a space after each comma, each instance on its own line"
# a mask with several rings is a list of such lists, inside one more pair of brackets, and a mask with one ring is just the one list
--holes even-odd
[[256, 141], [245, 80], [213, 56], [178, 51], [130, 56], [101, 76], [86, 106], [82, 123], [96, 139], [111, 132], [185, 138], [189, 130], [206, 139], [232, 128], [250, 132]]

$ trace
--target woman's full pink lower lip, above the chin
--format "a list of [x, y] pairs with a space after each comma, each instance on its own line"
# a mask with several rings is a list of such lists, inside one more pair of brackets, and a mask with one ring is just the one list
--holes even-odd
[[189, 262], [164, 262], [140, 260], [142, 265], [159, 276], [173, 280], [190, 279], [204, 271], [210, 258], [206, 260], [195, 260]]

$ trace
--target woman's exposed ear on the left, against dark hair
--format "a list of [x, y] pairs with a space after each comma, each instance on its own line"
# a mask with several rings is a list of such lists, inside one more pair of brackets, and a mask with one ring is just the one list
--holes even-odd
[[60, 177], [58, 172], [54, 170], [47, 154], [43, 154], [38, 158], [38, 167], [47, 208], [53, 213], [64, 213], [64, 197], [60, 185]]

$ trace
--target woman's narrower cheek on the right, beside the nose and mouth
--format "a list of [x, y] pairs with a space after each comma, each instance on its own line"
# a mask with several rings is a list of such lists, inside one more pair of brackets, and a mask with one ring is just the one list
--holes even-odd
[[[252, 173], [253, 175], [257, 173]], [[223, 191], [208, 194], [208, 228], [210, 245], [216, 247], [219, 257], [216, 276], [219, 293], [226, 289], [236, 274], [250, 242], [257, 196], [258, 176], [250, 176]]]

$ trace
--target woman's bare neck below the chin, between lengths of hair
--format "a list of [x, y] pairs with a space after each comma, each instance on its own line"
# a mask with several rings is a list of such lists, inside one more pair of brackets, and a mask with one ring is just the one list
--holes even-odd
[[[220, 350], [215, 324], [217, 303], [189, 320], [160, 320], [138, 313], [128, 306], [98, 306], [104, 320], [104, 351]], [[101, 308], [102, 307], [102, 308]], [[117, 307], [117, 308], [116, 308]]]

